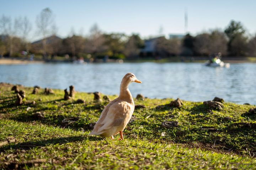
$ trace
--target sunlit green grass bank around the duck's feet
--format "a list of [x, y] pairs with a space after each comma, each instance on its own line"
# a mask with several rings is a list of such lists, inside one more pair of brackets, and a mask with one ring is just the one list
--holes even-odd
[[[107, 104], [94, 102], [93, 94], [77, 92], [65, 101], [63, 90], [32, 95], [33, 88], [20, 87], [26, 98], [15, 106], [11, 87], [0, 84], [0, 169], [256, 169], [256, 115], [246, 113], [255, 106], [224, 103], [218, 111], [183, 101], [181, 108], [156, 109], [172, 99], [134, 100], [146, 108], [134, 111], [124, 140], [117, 141], [118, 135], [87, 135]], [[178, 126], [165, 128], [163, 121]], [[22, 164], [35, 159], [44, 161]]]

